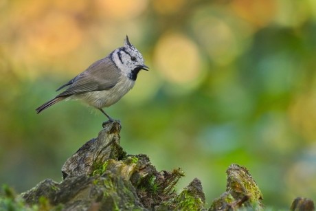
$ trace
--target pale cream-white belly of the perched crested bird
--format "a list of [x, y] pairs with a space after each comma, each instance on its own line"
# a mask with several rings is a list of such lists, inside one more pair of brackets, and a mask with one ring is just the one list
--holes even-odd
[[115, 102], [120, 100], [129, 90], [131, 90], [134, 83], [135, 82], [132, 80], [118, 82], [112, 89], [80, 93], [76, 95], [76, 98], [83, 100], [96, 109], [109, 107], [112, 104], [115, 104]]

